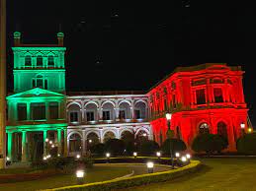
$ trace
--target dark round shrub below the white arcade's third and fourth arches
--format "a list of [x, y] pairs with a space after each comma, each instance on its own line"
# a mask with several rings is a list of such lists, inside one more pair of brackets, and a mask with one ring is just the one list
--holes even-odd
[[125, 150], [125, 143], [120, 139], [110, 139], [105, 143], [104, 151], [112, 156], [121, 156]]

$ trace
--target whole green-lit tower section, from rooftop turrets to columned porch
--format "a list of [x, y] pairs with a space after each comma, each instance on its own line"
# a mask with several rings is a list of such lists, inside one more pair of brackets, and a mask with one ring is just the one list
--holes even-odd
[[55, 155], [66, 156], [63, 37], [57, 33], [57, 44], [24, 44], [21, 32], [14, 32], [14, 95], [6, 98], [8, 159], [43, 158], [51, 151], [48, 139]]

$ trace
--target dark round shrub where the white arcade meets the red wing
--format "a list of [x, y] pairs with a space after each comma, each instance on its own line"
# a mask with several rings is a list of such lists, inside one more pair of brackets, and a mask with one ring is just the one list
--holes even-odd
[[152, 155], [159, 151], [159, 145], [155, 141], [143, 140], [137, 143], [137, 151], [142, 155]]

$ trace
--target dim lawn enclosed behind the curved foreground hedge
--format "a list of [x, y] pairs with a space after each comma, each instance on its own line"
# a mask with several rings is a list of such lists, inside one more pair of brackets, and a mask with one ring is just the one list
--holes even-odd
[[[164, 171], [169, 168], [156, 166], [155, 171]], [[2, 173], [13, 173], [15, 170], [18, 172], [26, 172], [29, 169], [5, 169], [2, 170]], [[95, 166], [86, 171], [85, 183], [97, 182], [110, 180], [117, 177], [127, 175], [134, 170], [134, 174], [143, 174], [147, 173], [147, 168], [145, 165], [135, 165], [135, 164], [95, 164]], [[56, 188], [62, 186], [69, 186], [76, 184], [75, 174], [72, 175], [56, 175], [50, 176], [48, 178], [42, 178], [40, 180], [16, 182], [16, 183], [4, 183], [0, 184], [0, 191], [9, 191], [9, 190], [19, 190], [19, 191], [30, 191], [30, 190], [39, 190], [46, 188]]]

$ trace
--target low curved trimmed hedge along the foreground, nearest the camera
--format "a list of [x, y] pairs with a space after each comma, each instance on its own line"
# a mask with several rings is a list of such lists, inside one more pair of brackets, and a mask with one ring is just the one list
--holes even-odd
[[201, 166], [200, 161], [191, 160], [190, 164], [180, 167], [178, 169], [172, 169], [172, 170], [155, 172], [155, 173], [147, 173], [142, 175], [135, 175], [131, 177], [125, 177], [122, 179], [113, 179], [113, 180], [95, 182], [95, 183], [89, 183], [89, 184], [83, 184], [83, 185], [46, 189], [44, 191], [50, 191], [50, 190], [51, 191], [54, 191], [54, 190], [110, 191], [112, 189], [128, 188], [132, 186], [140, 186], [140, 185], [145, 185], [153, 182], [163, 182], [166, 180], [174, 179], [182, 175], [185, 175], [187, 173], [194, 172], [198, 170], [200, 166]]

